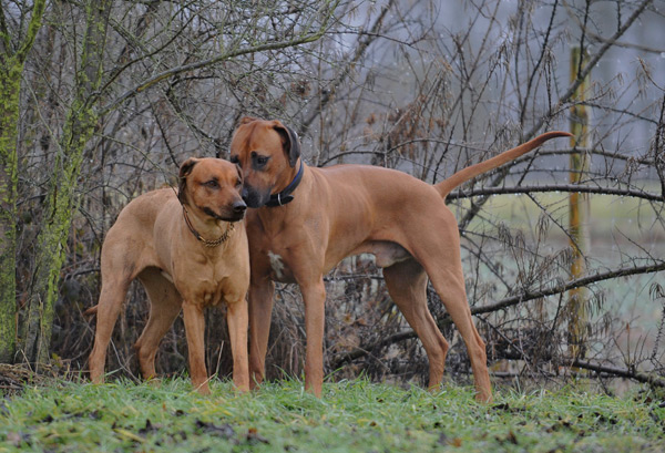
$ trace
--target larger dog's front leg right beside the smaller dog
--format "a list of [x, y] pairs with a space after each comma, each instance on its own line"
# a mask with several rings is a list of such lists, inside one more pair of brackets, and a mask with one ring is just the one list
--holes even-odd
[[249, 387], [258, 387], [265, 375], [266, 352], [270, 334], [273, 318], [273, 295], [275, 284], [267, 277], [254, 279], [256, 272], [252, 270], [249, 285]]

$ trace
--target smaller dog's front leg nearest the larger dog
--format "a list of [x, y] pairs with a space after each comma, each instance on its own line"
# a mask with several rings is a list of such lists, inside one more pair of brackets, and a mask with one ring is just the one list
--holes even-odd
[[247, 300], [243, 297], [231, 302], [226, 309], [226, 323], [233, 353], [233, 382], [242, 392], [249, 391], [249, 366], [247, 361]]

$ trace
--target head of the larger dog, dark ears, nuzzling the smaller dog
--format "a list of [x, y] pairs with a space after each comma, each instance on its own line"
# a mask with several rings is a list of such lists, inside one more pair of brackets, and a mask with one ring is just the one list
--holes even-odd
[[262, 207], [291, 182], [300, 157], [298, 135], [282, 122], [244, 117], [231, 142], [231, 162], [243, 169], [243, 199]]

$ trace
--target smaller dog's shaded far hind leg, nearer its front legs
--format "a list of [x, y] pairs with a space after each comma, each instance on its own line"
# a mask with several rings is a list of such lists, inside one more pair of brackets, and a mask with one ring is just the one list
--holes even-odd
[[150, 299], [150, 317], [143, 332], [134, 344], [141, 373], [144, 379], [154, 378], [155, 356], [160, 341], [166, 334], [173, 321], [181, 311], [182, 298], [173, 282], [162, 275], [155, 267], [146, 268], [139, 275], [139, 279]]

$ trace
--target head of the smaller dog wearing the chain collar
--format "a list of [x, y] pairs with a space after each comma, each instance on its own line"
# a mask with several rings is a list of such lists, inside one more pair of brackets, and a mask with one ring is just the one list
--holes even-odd
[[177, 197], [185, 206], [224, 222], [242, 220], [247, 210], [241, 168], [219, 158], [190, 157], [180, 168]]

